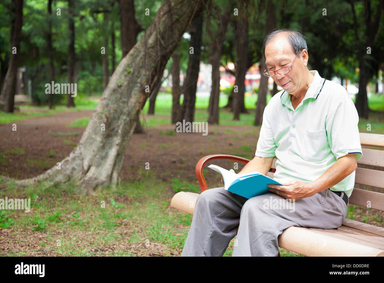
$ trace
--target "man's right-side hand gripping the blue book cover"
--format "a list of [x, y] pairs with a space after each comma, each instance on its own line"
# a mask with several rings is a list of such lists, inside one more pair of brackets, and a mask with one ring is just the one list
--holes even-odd
[[310, 189], [308, 184], [298, 180], [288, 180], [280, 183], [284, 186], [277, 184], [267, 184], [267, 186], [270, 187], [268, 191], [278, 194], [283, 198], [289, 199], [290, 202], [298, 201], [302, 198], [308, 198], [316, 193]]

